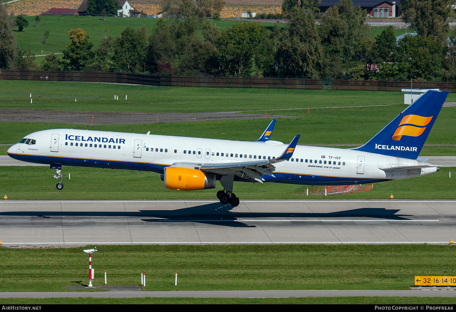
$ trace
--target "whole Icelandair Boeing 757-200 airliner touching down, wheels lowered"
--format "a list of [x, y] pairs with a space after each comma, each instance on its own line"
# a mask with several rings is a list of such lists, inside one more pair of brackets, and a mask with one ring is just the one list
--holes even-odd
[[215, 188], [221, 203], [236, 207], [233, 181], [302, 185], [373, 183], [439, 171], [418, 155], [448, 92], [427, 91], [361, 147], [338, 149], [286, 145], [269, 140], [272, 120], [254, 142], [214, 140], [92, 130], [52, 129], [26, 135], [8, 155], [57, 169], [62, 166], [152, 171], [166, 188], [179, 191]]

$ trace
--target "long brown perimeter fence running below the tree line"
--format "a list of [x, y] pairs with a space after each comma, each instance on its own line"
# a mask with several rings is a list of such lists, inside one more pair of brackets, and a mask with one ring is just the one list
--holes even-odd
[[[355, 80], [300, 77], [229, 77], [170, 75], [127, 72], [77, 72], [1, 69], [1, 80], [69, 81], [99, 83], [130, 83], [150, 86], [176, 86], [197, 88], [283, 88], [297, 90], [362, 90], [401, 91], [410, 88], [410, 81]], [[413, 88], [439, 88], [455, 92], [453, 81], [413, 81]]]

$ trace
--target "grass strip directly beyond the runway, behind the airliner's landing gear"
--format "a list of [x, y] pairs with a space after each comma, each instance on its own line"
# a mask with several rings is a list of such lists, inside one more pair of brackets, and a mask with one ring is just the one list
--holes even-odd
[[[442, 167], [439, 172], [388, 182], [375, 183], [368, 192], [345, 195], [306, 196], [306, 188], [311, 186], [282, 183], [234, 182], [233, 192], [242, 199], [453, 199], [456, 189], [455, 179], [449, 178], [448, 171], [453, 167]], [[67, 172], [71, 173], [68, 180]], [[68, 167], [62, 168], [63, 185], [57, 191], [57, 180], [52, 176], [55, 169], [46, 166], [4, 166], [0, 172], [0, 193], [8, 199], [211, 199], [223, 187], [217, 182], [215, 189], [192, 192], [179, 192], [164, 188], [160, 175], [152, 172]], [[24, 192], [26, 190], [26, 192]], [[293, 193], [294, 191], [294, 193]], [[321, 194], [321, 195], [320, 195]]]

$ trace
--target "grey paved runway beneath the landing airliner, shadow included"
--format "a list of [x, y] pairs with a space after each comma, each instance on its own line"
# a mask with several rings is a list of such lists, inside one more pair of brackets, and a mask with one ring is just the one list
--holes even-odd
[[456, 200], [1, 201], [3, 246], [448, 244]]

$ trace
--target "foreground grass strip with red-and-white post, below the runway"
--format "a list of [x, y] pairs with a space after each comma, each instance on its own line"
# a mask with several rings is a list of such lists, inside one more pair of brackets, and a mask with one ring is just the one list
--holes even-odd
[[[88, 248], [93, 246], [3, 248], [0, 291], [68, 291], [71, 285], [87, 285], [82, 250]], [[142, 270], [148, 291], [409, 289], [415, 275], [455, 275], [453, 249], [427, 244], [97, 245], [93, 285], [104, 284], [104, 270], [109, 285], [139, 285]]]

